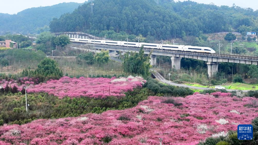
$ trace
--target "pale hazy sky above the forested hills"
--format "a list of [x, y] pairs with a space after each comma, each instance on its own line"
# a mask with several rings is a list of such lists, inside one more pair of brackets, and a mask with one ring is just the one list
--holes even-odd
[[[5, 2], [3, 2], [5, 1]], [[0, 0], [0, 3], [8, 3], [8, 6], [3, 6], [0, 9], [0, 13], [9, 13], [9, 14], [16, 14], [22, 10], [31, 8], [31, 7], [39, 7], [39, 6], [50, 6], [59, 4], [62, 2], [77, 2], [83, 3], [86, 0]], [[125, 0], [126, 1], [126, 0]], [[177, 1], [177, 0], [175, 0]], [[184, 1], [184, 0], [180, 0]], [[251, 7], [254, 10], [257, 10], [258, 1], [257, 0], [192, 0], [198, 3], [214, 3], [215, 5], [228, 5], [232, 6], [235, 3], [237, 6], [248, 8]], [[10, 7], [11, 6], [11, 7]], [[11, 9], [10, 9], [11, 8]]]

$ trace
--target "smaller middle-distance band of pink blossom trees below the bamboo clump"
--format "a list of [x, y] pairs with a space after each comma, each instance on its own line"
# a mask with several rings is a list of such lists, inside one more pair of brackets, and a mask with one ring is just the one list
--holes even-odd
[[127, 78], [69, 78], [49, 80], [28, 88], [29, 93], [46, 92], [59, 98], [68, 96], [76, 98], [87, 96], [91, 98], [106, 98], [107, 96], [125, 96], [124, 92], [142, 87], [146, 82], [142, 77]]

